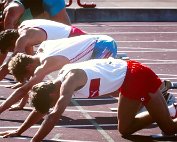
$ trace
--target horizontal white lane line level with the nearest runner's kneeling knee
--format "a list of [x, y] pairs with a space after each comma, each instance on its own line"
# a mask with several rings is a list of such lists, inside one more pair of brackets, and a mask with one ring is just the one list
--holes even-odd
[[[117, 124], [99, 124], [100, 127], [116, 127]], [[0, 126], [0, 129], [17, 129], [20, 126]], [[30, 129], [38, 129], [41, 125], [34, 125], [31, 126]], [[85, 127], [95, 127], [93, 124], [89, 125], [59, 125], [55, 126], [54, 128], [85, 128]]]

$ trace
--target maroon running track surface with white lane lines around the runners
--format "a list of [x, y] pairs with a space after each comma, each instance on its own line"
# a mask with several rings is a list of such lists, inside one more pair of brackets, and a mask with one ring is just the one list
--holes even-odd
[[[177, 22], [112, 22], [112, 23], [75, 23], [88, 33], [106, 34], [113, 37], [118, 44], [118, 52], [126, 53], [132, 60], [137, 60], [145, 65], [150, 65], [160, 79], [177, 82]], [[103, 29], [103, 30], [102, 30]], [[8, 54], [11, 56], [11, 54]], [[47, 75], [46, 80], [54, 80], [58, 72]], [[11, 78], [12, 76], [10, 76]], [[46, 81], [45, 80], [45, 81]], [[2, 80], [0, 87], [5, 90], [0, 95], [0, 104], [10, 95], [9, 90], [3, 87], [15, 83], [15, 81]], [[170, 89], [169, 93], [177, 99], [177, 89]], [[125, 140], [117, 131], [117, 112], [111, 108], [117, 108], [118, 97], [110, 98], [73, 98], [76, 104], [70, 103], [61, 118], [61, 125], [58, 123], [54, 130], [46, 136], [48, 141], [61, 142], [96, 142]], [[17, 129], [25, 120], [33, 108], [27, 104], [21, 111], [6, 111], [1, 114], [0, 131]], [[19, 114], [21, 117], [19, 117]], [[9, 138], [14, 142], [30, 141], [40, 123], [32, 126], [20, 137]], [[101, 130], [101, 131], [100, 131]], [[136, 133], [142, 136], [144, 141], [149, 135], [160, 133], [159, 128], [151, 126]], [[73, 135], [72, 135], [73, 134]], [[76, 134], [76, 135], [74, 135]], [[135, 135], [136, 135], [135, 134]], [[71, 136], [72, 135], [72, 136]], [[148, 136], [147, 136], [148, 135]], [[27, 136], [27, 137], [25, 137]], [[86, 139], [84, 138], [86, 137]], [[151, 141], [148, 137], [147, 141]], [[103, 140], [104, 139], [104, 140]], [[0, 141], [6, 139], [0, 139]], [[152, 140], [153, 141], [153, 140]]]

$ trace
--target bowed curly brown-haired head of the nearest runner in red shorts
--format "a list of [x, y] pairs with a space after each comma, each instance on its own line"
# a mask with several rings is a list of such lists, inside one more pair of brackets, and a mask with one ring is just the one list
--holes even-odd
[[52, 93], [55, 93], [55, 84], [52, 82], [38, 83], [28, 93], [30, 96], [29, 103], [38, 112], [42, 114], [47, 113], [56, 102], [52, 99]]

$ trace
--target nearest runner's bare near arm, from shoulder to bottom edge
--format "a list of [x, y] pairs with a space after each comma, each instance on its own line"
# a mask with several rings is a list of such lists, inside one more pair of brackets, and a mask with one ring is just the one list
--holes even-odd
[[62, 113], [71, 101], [73, 92], [86, 83], [85, 74], [68, 73], [67, 77], [61, 84], [60, 97], [55, 104], [54, 110], [48, 115], [46, 120], [34, 135], [31, 142], [41, 141], [54, 127]]

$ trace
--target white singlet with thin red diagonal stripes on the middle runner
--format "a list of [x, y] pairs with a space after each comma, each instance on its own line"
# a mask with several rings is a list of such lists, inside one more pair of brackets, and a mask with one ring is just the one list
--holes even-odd
[[51, 56], [64, 56], [73, 62], [81, 62], [91, 58], [96, 37], [81, 35], [58, 40], [42, 42], [37, 50], [40, 62]]

